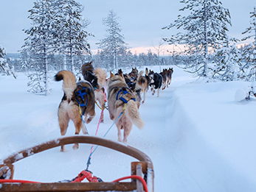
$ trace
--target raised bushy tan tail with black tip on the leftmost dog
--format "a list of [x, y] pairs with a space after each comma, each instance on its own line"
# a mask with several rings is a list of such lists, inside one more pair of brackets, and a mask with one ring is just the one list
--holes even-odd
[[62, 89], [64, 93], [66, 93], [67, 99], [71, 99], [75, 88], [77, 88], [75, 75], [71, 71], [59, 71], [58, 74], [55, 75], [55, 81], [59, 82], [61, 80], [63, 80]]

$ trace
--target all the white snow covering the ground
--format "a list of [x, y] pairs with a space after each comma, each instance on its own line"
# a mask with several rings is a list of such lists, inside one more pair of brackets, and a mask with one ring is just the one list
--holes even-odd
[[[149, 68], [159, 71], [159, 66]], [[256, 99], [235, 100], [236, 92], [246, 90], [251, 83], [206, 83], [173, 68], [170, 87], [162, 90], [160, 97], [148, 90], [145, 104], [139, 108], [145, 127], [134, 127], [128, 136], [129, 146], [151, 157], [155, 191], [256, 191]], [[17, 79], [0, 76], [0, 162], [15, 152], [60, 138], [57, 112], [62, 82], [51, 81], [50, 87], [49, 96], [36, 96], [27, 93], [24, 74], [18, 74]], [[100, 118], [98, 107], [96, 113], [86, 126], [90, 135], [95, 134]], [[98, 137], [113, 124], [108, 111], [104, 113], [105, 123], [100, 124]], [[74, 134], [70, 122], [66, 136]], [[112, 127], [105, 138], [117, 141], [117, 128]], [[68, 152], [55, 148], [31, 155], [14, 163], [14, 179], [73, 179], [86, 168], [90, 148], [80, 144], [74, 151], [67, 145]], [[130, 175], [132, 161], [136, 160], [98, 147], [89, 170], [111, 182]]]

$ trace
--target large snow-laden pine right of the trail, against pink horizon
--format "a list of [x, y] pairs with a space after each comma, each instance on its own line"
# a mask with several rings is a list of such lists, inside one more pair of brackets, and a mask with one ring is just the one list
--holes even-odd
[[181, 3], [186, 5], [180, 11], [188, 10], [190, 14], [178, 15], [173, 24], [162, 29], [174, 27], [182, 32], [164, 40], [170, 45], [184, 46], [181, 52], [173, 52], [174, 56], [186, 59], [183, 68], [199, 77], [207, 77], [209, 52], [226, 40], [227, 25], [231, 26], [229, 10], [218, 0], [182, 0]]

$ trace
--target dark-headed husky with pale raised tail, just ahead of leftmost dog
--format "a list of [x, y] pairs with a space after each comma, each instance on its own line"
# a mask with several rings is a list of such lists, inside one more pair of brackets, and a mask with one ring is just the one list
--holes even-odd
[[[105, 108], [105, 79], [107, 74], [103, 68], [95, 68], [90, 63], [83, 64], [82, 68], [83, 79], [91, 82], [92, 87], [94, 88], [95, 102], [100, 103], [102, 110]], [[102, 113], [100, 118], [100, 123], [104, 122], [104, 113]]]

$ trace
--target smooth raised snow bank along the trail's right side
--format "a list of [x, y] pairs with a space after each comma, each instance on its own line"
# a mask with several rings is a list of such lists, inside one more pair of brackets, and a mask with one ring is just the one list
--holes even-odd
[[235, 91], [247, 85], [194, 82], [173, 93], [167, 110], [173, 155], [198, 191], [255, 191], [256, 119], [248, 112], [256, 103], [234, 101]]

